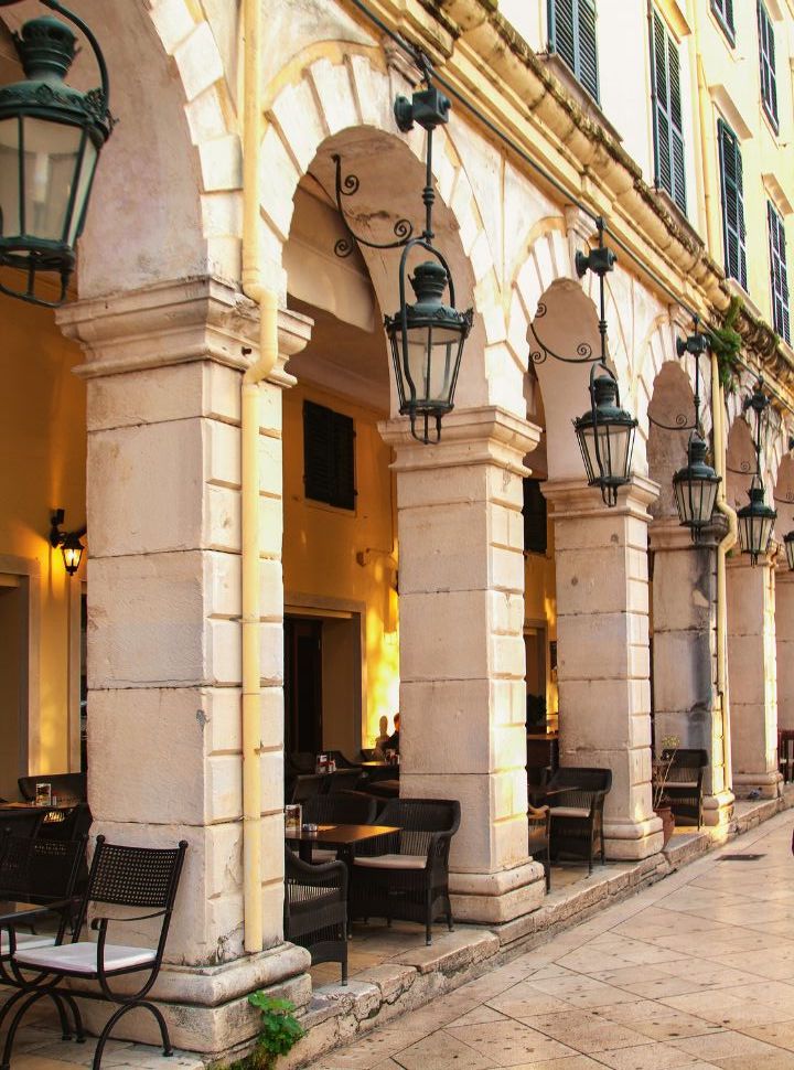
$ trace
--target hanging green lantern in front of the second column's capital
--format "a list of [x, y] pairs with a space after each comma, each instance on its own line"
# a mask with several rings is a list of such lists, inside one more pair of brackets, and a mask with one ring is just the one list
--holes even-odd
[[[420, 245], [437, 259], [417, 265], [409, 279], [416, 303], [408, 304], [405, 293], [406, 258], [414, 245]], [[451, 304], [443, 303], [449, 286]], [[441, 417], [454, 404], [463, 343], [472, 327], [472, 310], [460, 312], [454, 307], [454, 287], [446, 261], [423, 242], [409, 243], [400, 259], [400, 307], [384, 318], [391, 345], [391, 361], [397, 379], [400, 415], [409, 416], [411, 435], [420, 442], [438, 441]], [[420, 420], [420, 431], [416, 421]], [[434, 422], [434, 438], [430, 424]]]

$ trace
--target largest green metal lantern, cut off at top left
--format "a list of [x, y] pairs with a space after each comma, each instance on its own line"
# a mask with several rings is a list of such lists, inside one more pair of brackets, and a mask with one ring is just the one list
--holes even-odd
[[[0, 291], [56, 307], [74, 270], [75, 244], [112, 120], [107, 68], [96, 39], [57, 0], [42, 2], [85, 34], [101, 77], [101, 87], [88, 93], [64, 82], [77, 39], [65, 23], [44, 15], [25, 22], [14, 35], [24, 81], [0, 86], [0, 266], [26, 275], [24, 289], [0, 283]], [[57, 277], [56, 300], [37, 295], [42, 272]]]

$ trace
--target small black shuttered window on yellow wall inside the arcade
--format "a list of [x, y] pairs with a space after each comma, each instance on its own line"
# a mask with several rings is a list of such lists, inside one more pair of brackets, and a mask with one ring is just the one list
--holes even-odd
[[307, 497], [355, 509], [355, 431], [350, 416], [303, 403], [303, 484]]

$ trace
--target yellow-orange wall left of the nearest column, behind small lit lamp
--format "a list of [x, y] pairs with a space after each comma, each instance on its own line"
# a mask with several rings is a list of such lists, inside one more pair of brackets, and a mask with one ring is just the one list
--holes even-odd
[[[50, 511], [66, 511], [66, 527], [86, 520], [85, 386], [72, 368], [81, 350], [67, 342], [53, 313], [0, 296], [0, 558], [40, 567], [39, 705], [32, 713], [31, 773], [68, 769], [69, 584], [61, 550], [46, 535]], [[8, 568], [8, 560], [1, 569]], [[9, 569], [11, 570], [11, 569]], [[76, 713], [76, 711], [75, 711]], [[36, 725], [37, 721], [37, 725]], [[39, 740], [39, 742], [36, 742]]]

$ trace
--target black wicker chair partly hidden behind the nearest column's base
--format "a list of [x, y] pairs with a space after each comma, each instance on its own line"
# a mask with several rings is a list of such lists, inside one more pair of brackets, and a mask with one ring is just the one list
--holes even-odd
[[347, 867], [311, 865], [285, 847], [285, 938], [305, 948], [312, 965], [340, 962], [347, 984]]

